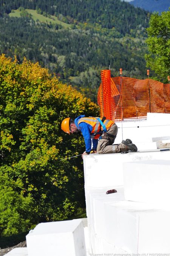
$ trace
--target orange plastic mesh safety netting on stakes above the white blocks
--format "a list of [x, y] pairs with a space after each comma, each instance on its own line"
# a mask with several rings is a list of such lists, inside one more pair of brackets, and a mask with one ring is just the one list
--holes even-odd
[[151, 113], [170, 113], [170, 84], [130, 77], [110, 77], [110, 70], [101, 71], [97, 102], [100, 116], [122, 121], [142, 118]]

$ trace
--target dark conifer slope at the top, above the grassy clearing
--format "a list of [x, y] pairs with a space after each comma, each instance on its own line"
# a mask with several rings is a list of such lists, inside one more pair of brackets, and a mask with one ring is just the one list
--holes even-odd
[[48, 14], [62, 14], [69, 23], [90, 22], [105, 28], [115, 27], [125, 35], [138, 25], [147, 26], [147, 12], [120, 0], [2, 0], [1, 13], [10, 13], [20, 6], [28, 9], [41, 9]]

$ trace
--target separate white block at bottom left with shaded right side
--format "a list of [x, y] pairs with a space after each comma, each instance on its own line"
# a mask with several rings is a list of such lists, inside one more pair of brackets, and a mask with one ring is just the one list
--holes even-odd
[[81, 219], [40, 223], [26, 236], [28, 256], [85, 256]]

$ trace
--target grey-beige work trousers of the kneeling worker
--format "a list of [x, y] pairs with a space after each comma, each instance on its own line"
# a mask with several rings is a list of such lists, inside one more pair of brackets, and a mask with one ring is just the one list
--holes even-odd
[[127, 151], [127, 146], [124, 144], [115, 144], [114, 140], [117, 135], [117, 125], [113, 124], [113, 126], [110, 127], [110, 129], [107, 130], [108, 134], [111, 134], [113, 137], [108, 136], [108, 138], [104, 138], [104, 135], [102, 135], [102, 138], [99, 140], [97, 145], [97, 153], [99, 154], [109, 154], [109, 153], [120, 153], [122, 151]]

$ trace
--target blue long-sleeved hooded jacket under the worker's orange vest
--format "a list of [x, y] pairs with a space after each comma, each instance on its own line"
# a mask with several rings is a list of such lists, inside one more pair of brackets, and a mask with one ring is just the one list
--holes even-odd
[[[80, 115], [78, 116], [75, 120], [74, 123], [77, 127], [77, 129], [79, 129], [82, 132], [82, 135], [84, 137], [84, 141], [85, 141], [85, 146], [86, 146], [86, 152], [90, 152], [91, 151], [91, 137], [90, 137], [90, 133], [92, 131], [92, 126], [90, 124], [87, 124], [85, 122], [82, 122], [79, 124], [78, 126], [78, 121], [80, 118], [85, 117], [85, 115]], [[97, 148], [97, 144], [98, 144], [98, 139], [92, 139], [93, 142], [93, 149]]]

